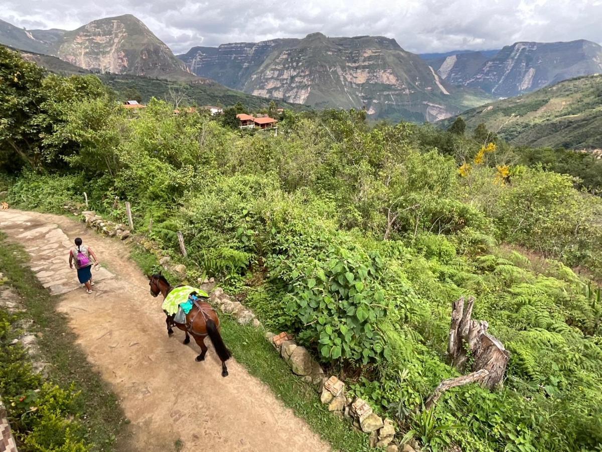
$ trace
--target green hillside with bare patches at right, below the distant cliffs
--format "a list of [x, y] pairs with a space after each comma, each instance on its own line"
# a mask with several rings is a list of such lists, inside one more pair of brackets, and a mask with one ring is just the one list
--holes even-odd
[[[462, 113], [514, 145], [602, 148], [602, 75], [574, 78]], [[442, 121], [447, 127], [454, 118]]]

